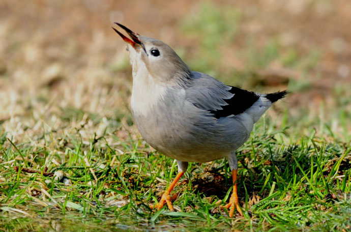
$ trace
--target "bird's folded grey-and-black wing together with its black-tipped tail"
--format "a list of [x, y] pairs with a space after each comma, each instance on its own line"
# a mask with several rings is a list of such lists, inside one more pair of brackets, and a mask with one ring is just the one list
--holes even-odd
[[233, 117], [247, 112], [254, 121], [287, 92], [257, 94], [235, 86], [225, 85], [213, 77], [193, 72], [192, 84], [186, 91], [186, 98], [196, 107], [207, 110], [216, 119]]

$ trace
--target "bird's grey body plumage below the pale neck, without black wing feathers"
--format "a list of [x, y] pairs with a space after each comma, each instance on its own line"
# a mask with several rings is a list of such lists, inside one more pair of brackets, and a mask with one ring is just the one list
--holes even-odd
[[193, 77], [185, 89], [167, 89], [147, 114], [134, 107], [132, 112], [141, 136], [156, 150], [181, 161], [208, 162], [242, 146], [272, 103], [261, 96], [244, 113], [216, 119], [209, 110], [226, 104], [230, 87], [203, 73], [193, 72]]

